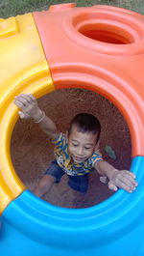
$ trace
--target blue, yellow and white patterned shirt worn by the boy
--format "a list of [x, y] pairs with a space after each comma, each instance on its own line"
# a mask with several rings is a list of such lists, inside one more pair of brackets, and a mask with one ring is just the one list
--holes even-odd
[[68, 141], [64, 133], [59, 133], [58, 137], [52, 141], [55, 144], [54, 154], [60, 168], [70, 176], [80, 176], [92, 171], [95, 163], [102, 160], [102, 155], [96, 151], [84, 160], [84, 162], [76, 163], [71, 161], [71, 156], [68, 153]]

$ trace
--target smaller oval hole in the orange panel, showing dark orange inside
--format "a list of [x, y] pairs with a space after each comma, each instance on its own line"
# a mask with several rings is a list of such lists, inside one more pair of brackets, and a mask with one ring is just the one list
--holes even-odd
[[[91, 29], [91, 27], [93, 27]], [[102, 43], [114, 43], [114, 44], [128, 44], [133, 43], [133, 39], [129, 33], [124, 33], [121, 29], [113, 29], [113, 27], [105, 25], [88, 26], [84, 25], [79, 29], [79, 32], [85, 37]]]

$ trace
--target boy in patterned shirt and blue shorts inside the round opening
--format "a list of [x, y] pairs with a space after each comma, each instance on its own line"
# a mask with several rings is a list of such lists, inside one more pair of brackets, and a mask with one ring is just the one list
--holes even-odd
[[38, 182], [35, 194], [42, 197], [49, 192], [54, 183], [67, 174], [68, 185], [74, 190], [86, 192], [88, 174], [95, 168], [102, 176], [108, 177], [108, 188], [121, 187], [128, 192], [135, 190], [137, 183], [132, 172], [117, 170], [103, 160], [99, 152], [101, 125], [91, 114], [78, 114], [66, 134], [59, 132], [54, 122], [38, 107], [36, 98], [31, 94], [19, 95], [14, 103], [21, 109], [21, 118], [32, 118], [50, 136], [55, 144], [55, 157]]

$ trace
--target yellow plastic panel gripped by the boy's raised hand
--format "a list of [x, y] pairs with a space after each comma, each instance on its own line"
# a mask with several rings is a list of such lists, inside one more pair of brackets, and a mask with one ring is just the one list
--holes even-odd
[[[3, 25], [2, 25], [3, 24]], [[5, 24], [5, 26], [4, 26]], [[14, 97], [32, 93], [39, 98], [54, 91], [32, 14], [0, 19], [0, 213], [26, 187], [11, 159], [12, 128], [18, 118]]]

